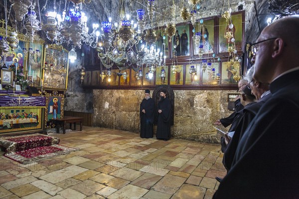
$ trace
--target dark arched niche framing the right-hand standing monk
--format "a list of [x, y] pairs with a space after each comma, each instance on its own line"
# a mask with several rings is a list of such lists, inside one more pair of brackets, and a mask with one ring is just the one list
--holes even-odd
[[[157, 86], [152, 93], [152, 99], [154, 100], [155, 107], [158, 107], [158, 101], [160, 99], [160, 92], [165, 90], [166, 97], [171, 101], [171, 125], [174, 124], [174, 93], [173, 90], [168, 85]], [[154, 111], [154, 124], [157, 123], [157, 110]]]

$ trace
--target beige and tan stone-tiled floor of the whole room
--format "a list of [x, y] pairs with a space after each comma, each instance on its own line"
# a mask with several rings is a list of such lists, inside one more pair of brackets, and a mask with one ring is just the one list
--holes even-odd
[[210, 199], [226, 174], [219, 145], [96, 127], [53, 136], [80, 150], [30, 165], [1, 152], [1, 199]]

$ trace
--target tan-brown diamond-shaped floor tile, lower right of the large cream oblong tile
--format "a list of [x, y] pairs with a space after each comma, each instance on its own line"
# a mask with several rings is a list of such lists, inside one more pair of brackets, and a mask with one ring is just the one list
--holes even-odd
[[100, 183], [96, 183], [91, 180], [86, 180], [70, 188], [73, 190], [77, 190], [86, 196], [90, 196], [105, 187], [105, 185], [102, 185]]

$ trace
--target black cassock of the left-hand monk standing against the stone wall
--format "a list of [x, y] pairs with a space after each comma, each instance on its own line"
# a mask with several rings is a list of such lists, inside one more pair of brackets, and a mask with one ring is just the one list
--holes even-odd
[[[145, 109], [146, 113], [142, 112], [143, 109]], [[153, 110], [154, 102], [152, 98], [149, 98], [149, 100], [143, 99], [140, 104], [140, 137], [142, 138], [153, 136]]]

